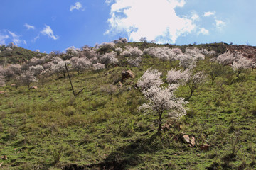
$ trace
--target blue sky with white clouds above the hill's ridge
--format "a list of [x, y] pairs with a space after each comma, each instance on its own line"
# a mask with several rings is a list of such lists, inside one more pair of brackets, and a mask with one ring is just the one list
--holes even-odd
[[256, 45], [255, 0], [1, 0], [0, 44], [63, 51], [119, 37]]

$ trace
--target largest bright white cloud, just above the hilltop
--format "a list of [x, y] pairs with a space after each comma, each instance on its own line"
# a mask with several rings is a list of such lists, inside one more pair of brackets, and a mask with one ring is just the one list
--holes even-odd
[[[183, 7], [184, 0], [116, 0], [111, 6], [110, 28], [105, 34], [128, 33], [129, 40], [173, 42], [196, 28], [193, 20], [177, 16], [176, 7]], [[196, 18], [195, 18], [196, 19]]]

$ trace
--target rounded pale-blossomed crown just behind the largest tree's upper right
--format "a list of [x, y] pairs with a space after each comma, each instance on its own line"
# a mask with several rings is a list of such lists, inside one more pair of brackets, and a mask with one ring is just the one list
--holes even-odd
[[190, 77], [190, 73], [188, 72], [188, 69], [181, 72], [181, 70], [176, 71], [176, 69], [171, 69], [167, 73], [166, 81], [169, 84], [186, 84], [188, 81], [188, 78]]

